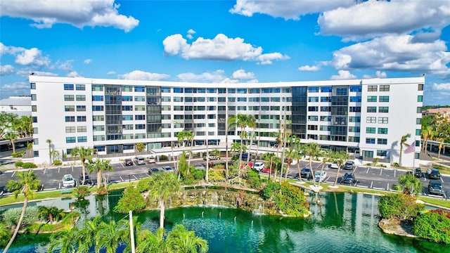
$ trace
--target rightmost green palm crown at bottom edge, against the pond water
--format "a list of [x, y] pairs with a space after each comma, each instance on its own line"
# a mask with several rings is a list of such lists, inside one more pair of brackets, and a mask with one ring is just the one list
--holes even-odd
[[207, 252], [208, 243], [205, 239], [195, 236], [194, 231], [186, 231], [183, 225], [178, 224], [167, 235], [167, 245], [173, 252]]

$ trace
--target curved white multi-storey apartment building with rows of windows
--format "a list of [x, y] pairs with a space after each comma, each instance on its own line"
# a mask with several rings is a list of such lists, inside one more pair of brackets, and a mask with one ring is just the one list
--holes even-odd
[[[76, 146], [98, 155], [135, 152], [144, 143], [153, 153], [170, 149], [176, 134], [192, 130], [195, 145], [224, 150], [226, 119], [254, 115], [260, 146], [274, 145], [283, 118], [302, 143], [359, 153], [364, 161], [399, 162], [400, 138], [411, 134], [412, 153], [402, 164], [418, 165], [425, 77], [312, 82], [205, 84], [39, 77], [30, 75], [34, 162], [49, 162], [54, 150]], [[229, 145], [240, 140], [229, 129]], [[406, 148], [403, 148], [405, 150]]]

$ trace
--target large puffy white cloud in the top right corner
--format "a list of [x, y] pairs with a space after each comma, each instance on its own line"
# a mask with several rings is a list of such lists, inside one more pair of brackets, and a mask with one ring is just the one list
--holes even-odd
[[450, 1], [361, 1], [323, 12], [318, 23], [321, 34], [347, 39], [406, 34], [421, 29], [440, 34], [450, 23]]

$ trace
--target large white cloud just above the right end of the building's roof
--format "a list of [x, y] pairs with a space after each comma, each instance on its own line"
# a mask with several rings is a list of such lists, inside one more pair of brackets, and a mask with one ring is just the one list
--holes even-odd
[[331, 64], [338, 70], [409, 70], [450, 74], [450, 52], [444, 41], [413, 43], [412, 35], [386, 36], [341, 48]]

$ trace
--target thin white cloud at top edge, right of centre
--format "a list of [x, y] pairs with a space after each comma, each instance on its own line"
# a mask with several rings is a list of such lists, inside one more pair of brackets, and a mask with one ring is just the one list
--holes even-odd
[[308, 13], [319, 13], [333, 10], [340, 6], [352, 6], [354, 0], [328, 0], [328, 1], [279, 1], [279, 0], [237, 0], [230, 9], [236, 13], [251, 17], [255, 13], [271, 15], [285, 20], [299, 20], [300, 16]]

